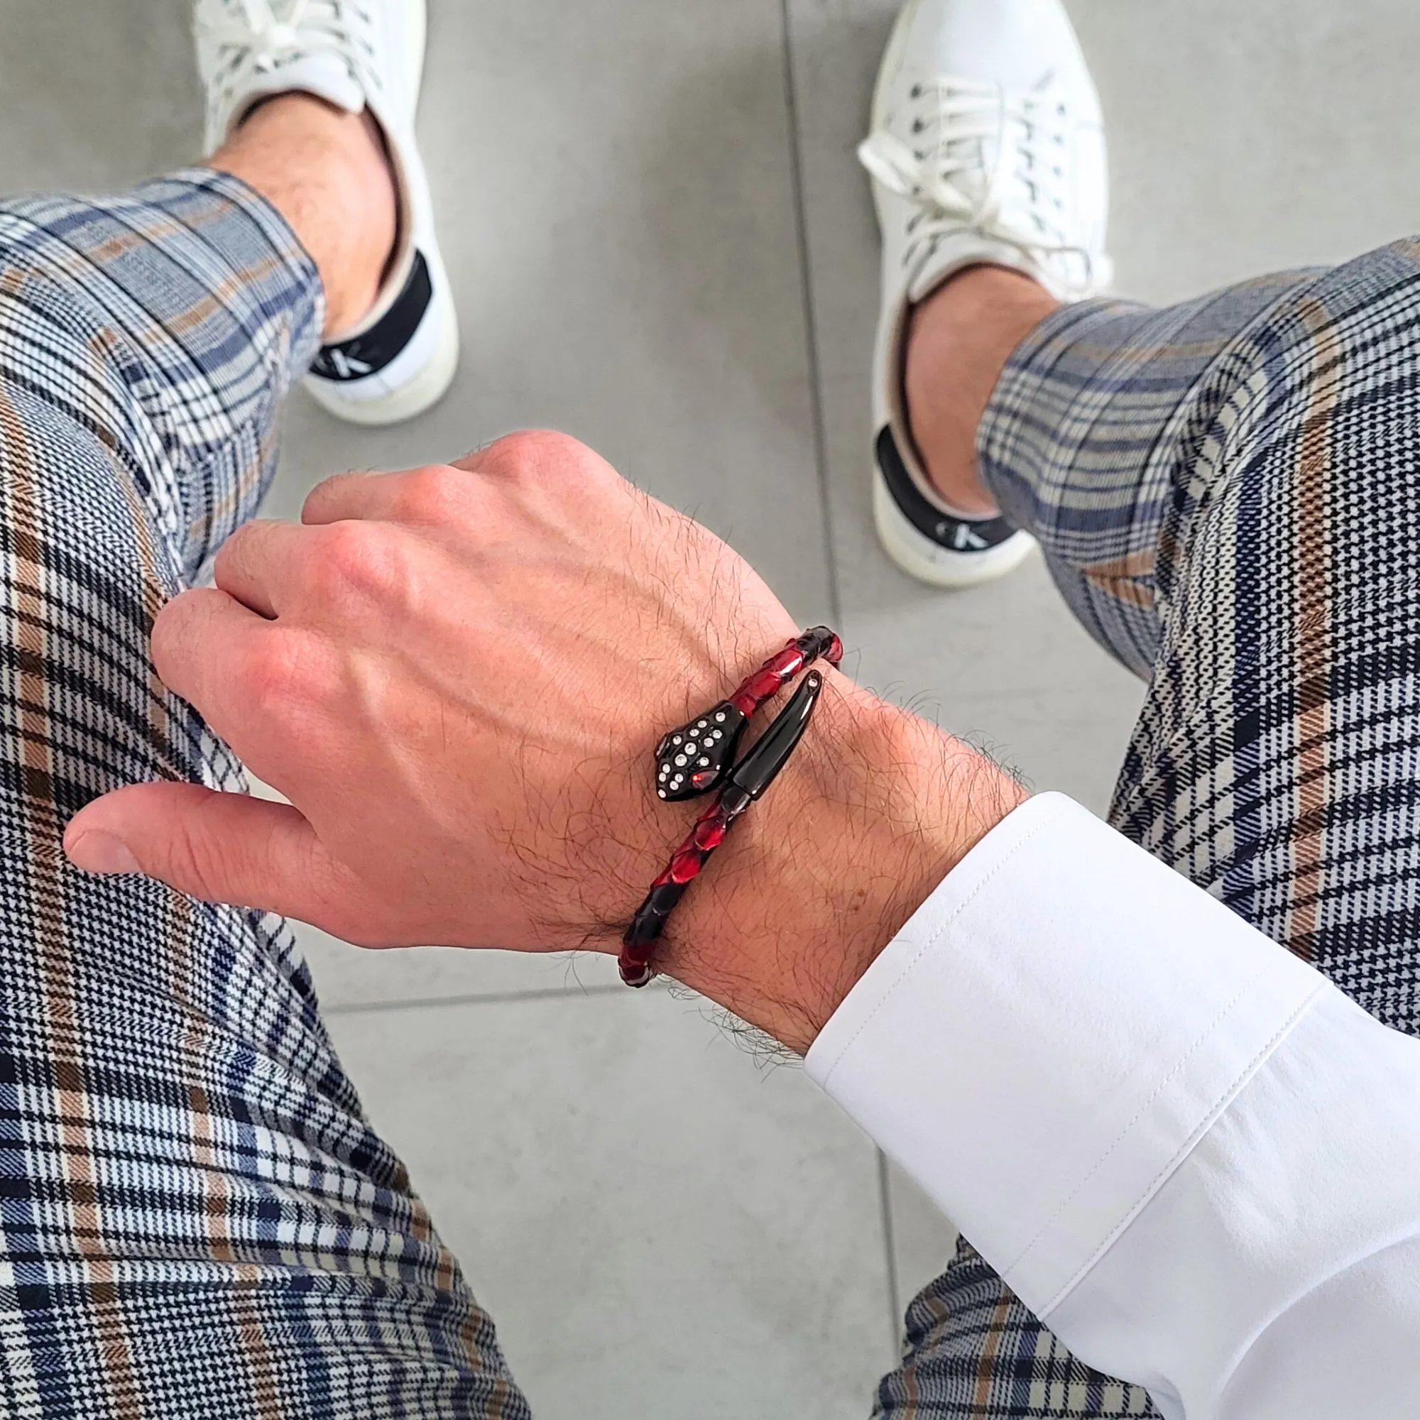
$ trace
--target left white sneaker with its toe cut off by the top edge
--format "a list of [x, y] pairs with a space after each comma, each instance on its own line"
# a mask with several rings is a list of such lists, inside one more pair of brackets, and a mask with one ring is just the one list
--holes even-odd
[[392, 425], [433, 405], [459, 365], [459, 321], [415, 145], [425, 0], [196, 0], [207, 152], [263, 98], [300, 89], [368, 108], [399, 192], [399, 250], [373, 310], [325, 345], [305, 388], [332, 415]]

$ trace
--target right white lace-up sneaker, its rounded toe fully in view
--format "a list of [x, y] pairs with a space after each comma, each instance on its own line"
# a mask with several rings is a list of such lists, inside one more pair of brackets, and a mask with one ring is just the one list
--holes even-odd
[[1056, 300], [1108, 285], [1099, 98], [1059, 0], [907, 0], [878, 74], [873, 178], [883, 240], [873, 358], [873, 514], [889, 557], [934, 586], [1018, 567], [1034, 538], [971, 518], [932, 487], [912, 442], [903, 351], [912, 307], [956, 271], [1024, 271]]

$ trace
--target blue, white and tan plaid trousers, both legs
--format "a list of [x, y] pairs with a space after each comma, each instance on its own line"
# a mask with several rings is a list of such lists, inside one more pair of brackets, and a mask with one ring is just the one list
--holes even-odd
[[[1411, 1031], [1417, 310], [1409, 246], [1074, 307], [981, 430], [1076, 613], [1150, 677], [1116, 825]], [[310, 260], [234, 179], [0, 204], [6, 1416], [528, 1414], [284, 924], [60, 848], [121, 784], [243, 785], [148, 630], [256, 510], [321, 324]], [[879, 1411], [1152, 1413], [968, 1247]]]

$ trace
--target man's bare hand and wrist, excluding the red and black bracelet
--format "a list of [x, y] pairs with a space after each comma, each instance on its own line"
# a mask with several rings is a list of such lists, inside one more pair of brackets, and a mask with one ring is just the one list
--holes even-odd
[[[365, 946], [616, 950], [693, 818], [653, 791], [660, 733], [795, 630], [723, 542], [559, 435], [332, 479], [302, 525], [239, 531], [217, 588], [153, 628], [163, 682], [294, 807], [135, 785], [65, 846]], [[797, 1048], [1020, 798], [842, 677], [828, 692], [666, 950]]]

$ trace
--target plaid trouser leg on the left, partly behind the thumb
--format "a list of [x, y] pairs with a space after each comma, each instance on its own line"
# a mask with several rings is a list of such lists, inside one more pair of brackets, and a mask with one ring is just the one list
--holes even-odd
[[124, 782], [243, 787], [148, 632], [254, 513], [321, 324], [234, 179], [0, 204], [6, 1417], [528, 1414], [285, 927], [60, 851]]

